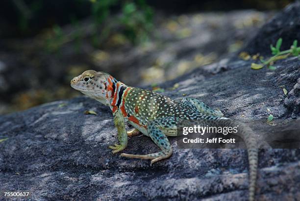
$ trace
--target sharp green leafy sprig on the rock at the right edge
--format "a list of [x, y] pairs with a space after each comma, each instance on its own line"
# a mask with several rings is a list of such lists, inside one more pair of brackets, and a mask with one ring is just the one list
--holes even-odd
[[267, 61], [264, 61], [264, 60], [261, 59], [260, 60], [261, 64], [252, 63], [251, 68], [254, 69], [254, 70], [258, 70], [258, 69], [261, 69], [261, 68], [266, 66], [271, 70], [275, 70], [276, 67], [273, 66], [275, 61], [280, 60], [280, 59], [285, 59], [290, 55], [299, 56], [300, 47], [297, 47], [297, 45], [298, 45], [297, 40], [295, 40], [293, 42], [293, 45], [288, 50], [280, 51], [281, 44], [282, 44], [282, 38], [279, 38], [276, 42], [275, 47], [273, 45], [270, 45], [271, 52], [274, 56], [271, 57], [270, 59], [268, 59]]

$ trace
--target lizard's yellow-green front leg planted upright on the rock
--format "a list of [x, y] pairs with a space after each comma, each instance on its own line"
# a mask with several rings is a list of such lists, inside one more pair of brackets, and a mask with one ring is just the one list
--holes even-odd
[[118, 131], [118, 140], [120, 144], [114, 144], [114, 146], [110, 145], [108, 148], [113, 149], [113, 154], [116, 154], [122, 150], [124, 150], [127, 146], [128, 136], [125, 130], [125, 120], [124, 116], [120, 111], [114, 113], [114, 124]]

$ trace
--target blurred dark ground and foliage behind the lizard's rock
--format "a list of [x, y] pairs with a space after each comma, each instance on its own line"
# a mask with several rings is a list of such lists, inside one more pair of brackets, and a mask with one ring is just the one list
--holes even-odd
[[4, 0], [0, 113], [77, 96], [87, 69], [156, 87], [237, 52], [292, 1]]

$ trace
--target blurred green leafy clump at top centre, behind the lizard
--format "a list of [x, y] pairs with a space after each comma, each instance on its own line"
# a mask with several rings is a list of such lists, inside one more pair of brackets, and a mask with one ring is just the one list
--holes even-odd
[[[92, 14], [96, 29], [101, 29], [100, 36], [95, 30], [93, 44], [99, 45], [107, 39], [111, 33], [112, 24], [121, 27], [121, 33], [133, 44], [144, 42], [148, 39], [153, 26], [153, 11], [145, 0], [93, 0]], [[113, 17], [111, 10], [117, 4], [121, 4], [121, 13]], [[109, 22], [108, 22], [109, 20]]]

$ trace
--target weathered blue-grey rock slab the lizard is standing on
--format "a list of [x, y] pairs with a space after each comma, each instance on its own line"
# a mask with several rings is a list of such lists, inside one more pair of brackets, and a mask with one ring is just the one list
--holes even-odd
[[[299, 118], [299, 58], [277, 61], [275, 70], [255, 71], [251, 62], [231, 57], [160, 87], [176, 100], [196, 97], [233, 119], [264, 123], [270, 113], [275, 121]], [[175, 83], [179, 87], [168, 90]], [[178, 149], [173, 137], [173, 156], [152, 166], [112, 155], [107, 146], [117, 140], [111, 112], [86, 97], [0, 116], [0, 139], [6, 137], [0, 142], [0, 191], [30, 191], [33, 200], [247, 200], [246, 150]], [[150, 138], [135, 136], [124, 152], [155, 151]], [[258, 200], [300, 198], [299, 149], [261, 149], [258, 166]]]

